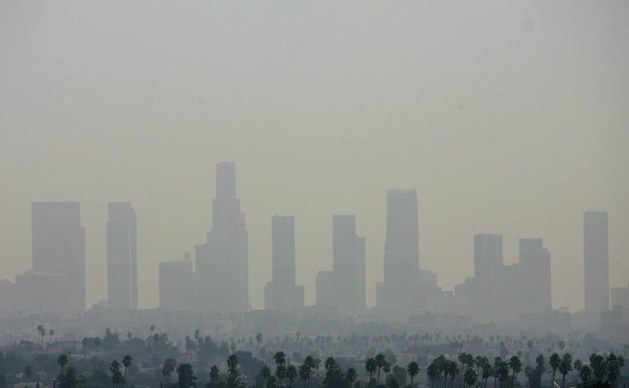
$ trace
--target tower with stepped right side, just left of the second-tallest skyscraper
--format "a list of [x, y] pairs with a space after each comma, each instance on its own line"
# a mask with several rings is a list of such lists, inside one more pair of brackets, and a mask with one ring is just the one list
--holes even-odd
[[365, 308], [365, 239], [356, 235], [355, 216], [332, 216], [333, 304]]

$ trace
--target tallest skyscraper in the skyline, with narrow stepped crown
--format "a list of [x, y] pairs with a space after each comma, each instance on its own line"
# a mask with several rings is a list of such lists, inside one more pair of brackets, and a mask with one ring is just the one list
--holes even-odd
[[199, 307], [220, 313], [248, 311], [248, 238], [233, 162], [216, 165], [212, 219], [207, 243], [195, 249]]

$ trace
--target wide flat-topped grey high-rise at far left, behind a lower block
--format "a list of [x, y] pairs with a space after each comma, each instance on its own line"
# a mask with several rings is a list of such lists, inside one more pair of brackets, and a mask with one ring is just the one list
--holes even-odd
[[69, 275], [67, 306], [86, 308], [85, 228], [78, 202], [33, 202], [33, 272]]

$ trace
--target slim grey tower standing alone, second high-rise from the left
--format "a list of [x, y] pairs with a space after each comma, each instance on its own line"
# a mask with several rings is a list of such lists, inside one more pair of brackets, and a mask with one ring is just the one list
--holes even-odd
[[138, 250], [130, 202], [110, 202], [107, 221], [107, 306], [138, 308]]

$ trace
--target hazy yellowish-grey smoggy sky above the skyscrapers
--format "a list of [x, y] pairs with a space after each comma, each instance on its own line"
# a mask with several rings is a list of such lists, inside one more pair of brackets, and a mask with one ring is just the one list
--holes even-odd
[[233, 160], [253, 308], [276, 213], [310, 303], [332, 214], [356, 214], [374, 304], [386, 190], [410, 187], [445, 289], [474, 233], [503, 233], [507, 263], [542, 237], [554, 306], [581, 308], [582, 211], [609, 211], [611, 285], [629, 282], [628, 21], [626, 1], [2, 1], [0, 279], [31, 268], [31, 201], [79, 201], [104, 299], [107, 203], [131, 201], [157, 306], [157, 263], [205, 241]]

